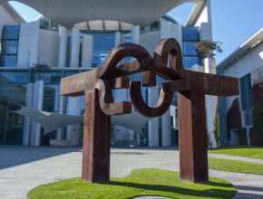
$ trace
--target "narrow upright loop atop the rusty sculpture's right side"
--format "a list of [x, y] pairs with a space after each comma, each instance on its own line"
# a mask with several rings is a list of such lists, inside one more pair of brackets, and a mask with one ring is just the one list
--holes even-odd
[[[168, 59], [170, 68], [167, 67]], [[166, 80], [176, 80], [185, 77], [180, 43], [173, 38], [161, 40], [154, 50], [153, 65], [157, 73]]]

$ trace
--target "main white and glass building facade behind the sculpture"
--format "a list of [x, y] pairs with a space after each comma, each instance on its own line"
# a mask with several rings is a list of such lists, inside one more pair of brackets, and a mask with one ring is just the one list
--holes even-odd
[[[0, 0], [0, 144], [49, 145], [63, 140], [69, 146], [82, 142], [82, 124], [71, 125], [45, 135], [40, 124], [16, 115], [8, 109], [8, 100], [32, 109], [69, 115], [83, 114], [83, 98], [59, 96], [60, 79], [99, 67], [107, 53], [121, 43], [138, 43], [151, 54], [163, 38], [175, 38], [183, 51], [183, 64], [189, 70], [216, 73], [214, 60], [201, 60], [194, 43], [212, 40], [209, 0], [162, 1], [32, 1], [29, 5], [42, 16], [25, 23], [6, 0]], [[167, 13], [184, 3], [195, 6], [185, 25], [178, 24]], [[63, 6], [61, 6], [63, 5]], [[125, 58], [122, 62], [130, 62]], [[47, 65], [48, 71], [34, 66]], [[132, 80], [141, 80], [132, 75]], [[159, 99], [161, 82], [153, 88], [142, 88], [144, 100], [151, 106]], [[130, 100], [128, 90], [117, 90], [114, 100]], [[207, 97], [208, 131], [211, 143], [217, 98]], [[143, 135], [119, 126], [112, 127], [112, 144], [116, 146], [177, 145], [177, 96], [170, 110], [152, 118], [143, 126]]]

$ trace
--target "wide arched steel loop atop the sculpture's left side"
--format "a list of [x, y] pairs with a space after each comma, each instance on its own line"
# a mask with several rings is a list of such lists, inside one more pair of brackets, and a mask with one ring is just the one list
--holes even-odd
[[[135, 43], [122, 43], [112, 49], [108, 53], [102, 65], [97, 69], [98, 78], [109, 78], [118, 71], [117, 64], [125, 57], [133, 57], [137, 60], [144, 58], [151, 58], [151, 54], [144, 49], [141, 45]], [[120, 69], [119, 69], [120, 71]]]

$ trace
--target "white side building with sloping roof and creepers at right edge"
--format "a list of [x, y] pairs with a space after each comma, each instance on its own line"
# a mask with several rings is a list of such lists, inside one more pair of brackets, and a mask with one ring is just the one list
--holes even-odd
[[[255, 111], [256, 114], [260, 111], [259, 114], [263, 115], [263, 101], [260, 102], [262, 99], [259, 97], [258, 104], [256, 102], [257, 99], [255, 99], [258, 98], [255, 93], [258, 92], [255, 85], [257, 86], [258, 84], [258, 89], [261, 93], [260, 87], [263, 85], [262, 41], [263, 29], [240, 45], [236, 51], [229, 54], [217, 66], [219, 74], [239, 78], [239, 96], [219, 98], [220, 141], [222, 145], [250, 145], [252, 130], [255, 128], [254, 120], [258, 119], [255, 118], [255, 115], [253, 117], [253, 114]], [[256, 105], [255, 102], [257, 103]], [[239, 111], [233, 111], [235, 104], [237, 104]], [[233, 118], [237, 119], [237, 121], [232, 122]], [[262, 121], [262, 118], [258, 120]], [[262, 128], [258, 129], [258, 131], [259, 134], [263, 135]], [[242, 142], [243, 132], [246, 138], [245, 142]], [[263, 143], [263, 137], [261, 138]]]

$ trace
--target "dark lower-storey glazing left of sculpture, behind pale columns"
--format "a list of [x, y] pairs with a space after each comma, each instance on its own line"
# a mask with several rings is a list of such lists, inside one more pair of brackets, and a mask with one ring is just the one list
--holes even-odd
[[[43, 80], [43, 110], [58, 112], [60, 79], [83, 71], [87, 70], [52, 70], [44, 73], [28, 70], [0, 70], [0, 145], [22, 144], [24, 117], [13, 113], [10, 106], [12, 102], [25, 105], [27, 83]], [[55, 131], [44, 135], [42, 129], [41, 145], [49, 145], [50, 139], [54, 138], [56, 138]]]

